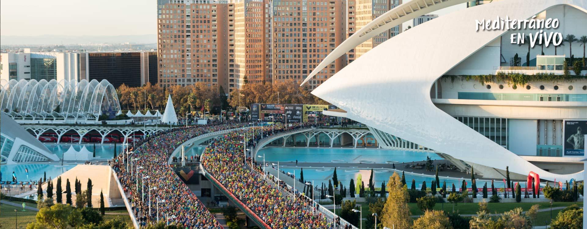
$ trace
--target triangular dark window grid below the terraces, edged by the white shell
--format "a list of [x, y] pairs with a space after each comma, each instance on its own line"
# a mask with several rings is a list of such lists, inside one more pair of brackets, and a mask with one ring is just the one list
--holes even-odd
[[471, 129], [491, 139], [495, 143], [508, 148], [508, 119], [507, 118], [484, 118], [484, 117], [454, 117], [463, 122]]

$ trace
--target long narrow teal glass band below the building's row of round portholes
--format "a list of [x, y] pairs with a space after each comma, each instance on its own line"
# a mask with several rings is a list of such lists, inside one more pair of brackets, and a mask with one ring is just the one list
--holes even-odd
[[458, 99], [459, 100], [587, 102], [587, 94], [530, 94], [530, 93], [459, 92]]

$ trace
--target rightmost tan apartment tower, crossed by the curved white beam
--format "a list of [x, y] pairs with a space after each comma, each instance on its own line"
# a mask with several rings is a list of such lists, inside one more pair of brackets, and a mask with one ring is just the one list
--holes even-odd
[[[372, 22], [373, 19], [402, 4], [402, 0], [349, 0], [347, 4], [347, 37], [350, 37], [357, 30], [367, 25], [367, 23]], [[347, 53], [348, 63], [352, 63], [353, 60], [369, 52], [369, 50], [380, 45], [387, 39], [398, 35], [400, 32], [402, 32], [402, 25], [389, 29], [363, 42]]]

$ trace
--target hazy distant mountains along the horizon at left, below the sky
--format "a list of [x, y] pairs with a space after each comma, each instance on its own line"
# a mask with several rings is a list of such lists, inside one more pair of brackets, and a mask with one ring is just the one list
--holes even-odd
[[0, 35], [0, 45], [74, 45], [91, 43], [157, 43], [157, 35], [119, 35], [119, 36], [62, 36], [62, 35], [39, 35], [39, 36], [10, 36]]

